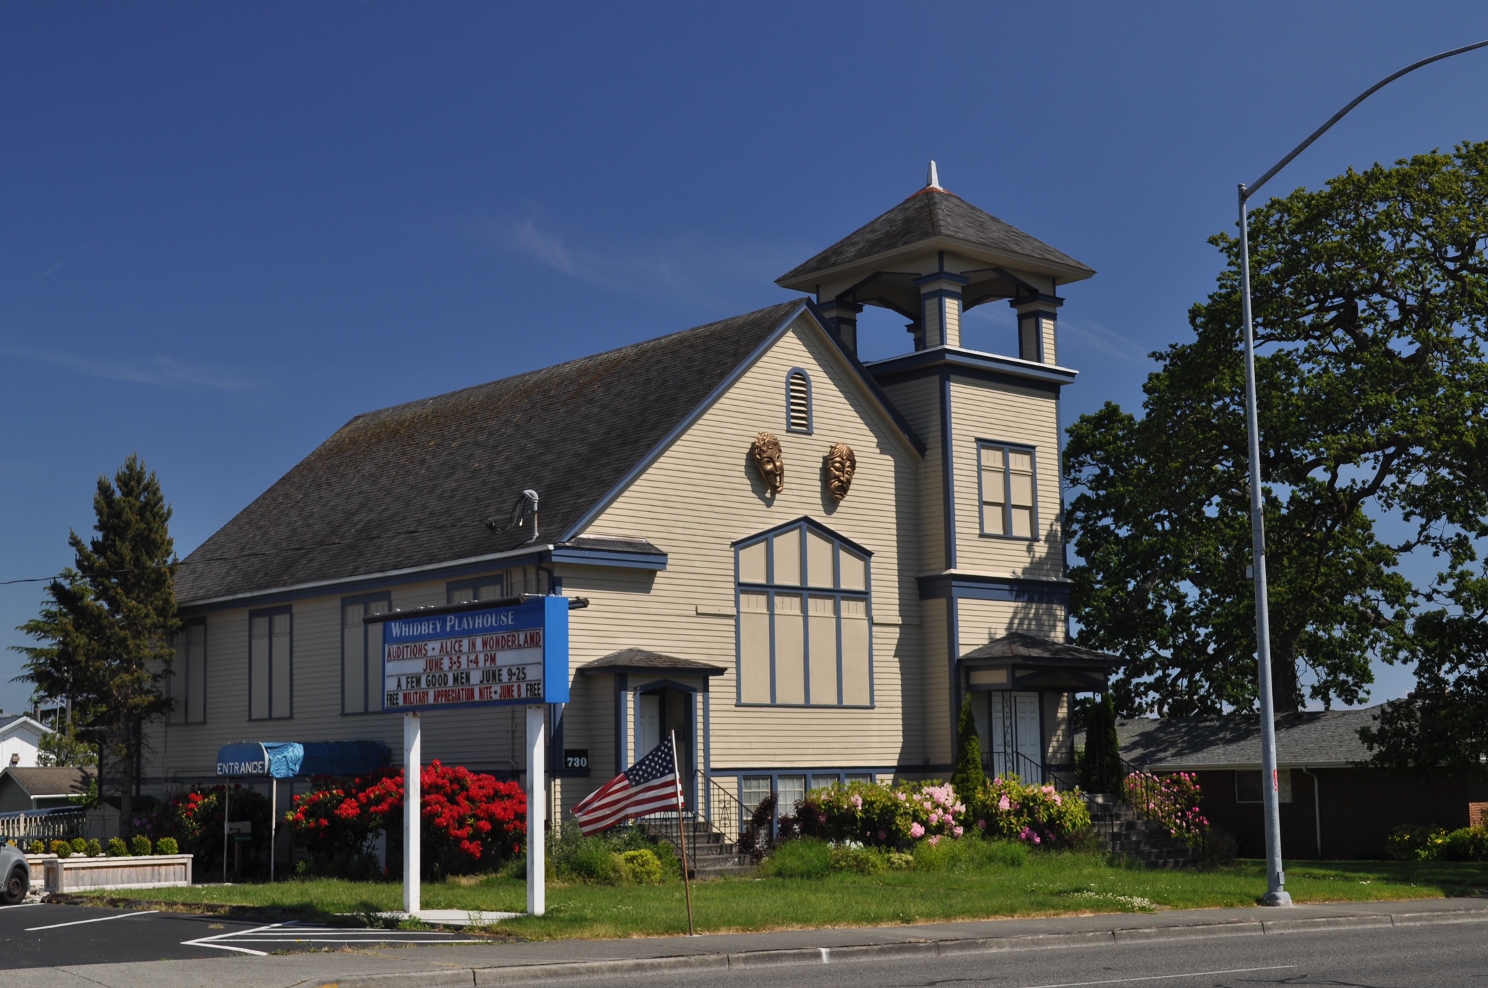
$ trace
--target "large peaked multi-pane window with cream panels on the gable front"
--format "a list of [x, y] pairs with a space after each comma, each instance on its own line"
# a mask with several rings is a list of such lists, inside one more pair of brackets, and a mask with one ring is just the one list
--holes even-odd
[[809, 521], [738, 554], [738, 702], [870, 707], [869, 554]]

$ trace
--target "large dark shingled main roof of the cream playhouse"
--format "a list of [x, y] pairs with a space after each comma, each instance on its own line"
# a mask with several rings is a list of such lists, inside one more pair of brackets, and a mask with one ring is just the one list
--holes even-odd
[[183, 559], [177, 598], [189, 606], [515, 551], [530, 542], [530, 522], [493, 534], [484, 521], [504, 522], [524, 488], [540, 495], [537, 543], [552, 543], [805, 308], [783, 302], [357, 415]]

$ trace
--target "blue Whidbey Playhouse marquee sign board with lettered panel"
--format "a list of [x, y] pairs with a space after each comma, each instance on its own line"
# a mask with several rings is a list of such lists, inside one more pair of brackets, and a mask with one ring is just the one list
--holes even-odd
[[382, 710], [568, 702], [568, 598], [382, 622]]

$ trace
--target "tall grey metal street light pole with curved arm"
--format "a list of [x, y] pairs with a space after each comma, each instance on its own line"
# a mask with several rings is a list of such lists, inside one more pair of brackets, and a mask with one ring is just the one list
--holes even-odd
[[1286, 168], [1293, 158], [1321, 137], [1330, 126], [1338, 124], [1356, 106], [1367, 100], [1378, 89], [1390, 85], [1400, 76], [1415, 71], [1434, 61], [1461, 55], [1479, 48], [1488, 48], [1488, 42], [1476, 42], [1454, 48], [1430, 58], [1423, 58], [1385, 76], [1354, 97], [1342, 110], [1335, 113], [1323, 126], [1287, 153], [1286, 158], [1274, 164], [1266, 174], [1251, 185], [1240, 186], [1240, 308], [1245, 323], [1245, 439], [1250, 452], [1250, 540], [1251, 540], [1251, 574], [1256, 583], [1256, 673], [1260, 690], [1260, 772], [1262, 772], [1262, 802], [1266, 814], [1266, 896], [1262, 905], [1290, 906], [1292, 896], [1286, 890], [1286, 873], [1281, 870], [1281, 792], [1277, 778], [1277, 723], [1275, 704], [1271, 693], [1271, 615], [1266, 600], [1266, 527], [1265, 501], [1260, 494], [1260, 421], [1256, 412], [1256, 335], [1250, 320], [1250, 223], [1247, 210], [1250, 196], [1260, 190], [1260, 186]]

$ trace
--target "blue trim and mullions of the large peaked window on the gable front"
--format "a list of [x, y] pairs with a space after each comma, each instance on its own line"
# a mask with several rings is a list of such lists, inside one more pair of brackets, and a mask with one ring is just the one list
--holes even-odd
[[[801, 565], [806, 570], [806, 582], [801, 585], [795, 583], [777, 583], [775, 582], [775, 546], [774, 539], [778, 536], [796, 530], [801, 537]], [[812, 583], [812, 574], [806, 562], [806, 531], [814, 530], [826, 539], [832, 540], [832, 583], [830, 586], [823, 586]], [[748, 583], [743, 579], [740, 573], [740, 554], [750, 546], [765, 543], [765, 583]], [[866, 579], [865, 589], [862, 591], [845, 591], [839, 586], [842, 577], [842, 549], [844, 546], [848, 552], [863, 556], [863, 568]], [[743, 612], [743, 594], [763, 592], [769, 600], [769, 702], [745, 702], [744, 701], [744, 612]], [[804, 704], [783, 704], [778, 701], [777, 683], [775, 683], [775, 595], [790, 594], [801, 598], [801, 620], [802, 620], [802, 676], [805, 677], [805, 702]], [[814, 704], [811, 702], [811, 635], [805, 632], [809, 625], [811, 618], [811, 597], [830, 597], [836, 606], [836, 686], [838, 693], [833, 702]], [[868, 704], [847, 704], [844, 702], [845, 693], [842, 687], [842, 601], [844, 600], [860, 600], [863, 601], [866, 620], [868, 620]], [[795, 708], [811, 708], [811, 710], [830, 710], [833, 707], [839, 710], [873, 710], [878, 705], [878, 695], [873, 686], [873, 554], [863, 549], [850, 539], [844, 539], [826, 525], [812, 521], [811, 518], [798, 518], [796, 521], [777, 525], [774, 528], [766, 528], [765, 531], [750, 536], [747, 539], [740, 539], [734, 543], [734, 705], [735, 707], [795, 707]]]

